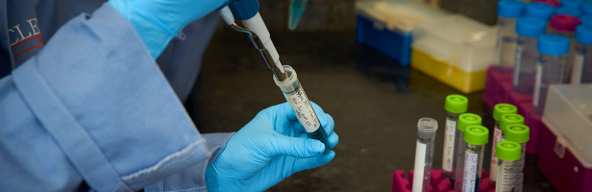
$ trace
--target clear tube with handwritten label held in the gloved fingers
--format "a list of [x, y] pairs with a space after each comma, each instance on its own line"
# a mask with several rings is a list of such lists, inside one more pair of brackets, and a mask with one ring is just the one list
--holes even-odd
[[284, 81], [279, 81], [274, 75], [275, 84], [282, 90], [284, 97], [294, 110], [298, 121], [304, 126], [308, 138], [313, 138], [325, 144], [325, 151], [323, 154], [329, 154], [329, 143], [327, 142], [327, 134], [323, 126], [318, 120], [317, 113], [310, 104], [310, 100], [306, 96], [304, 89], [300, 85], [300, 81], [296, 76], [296, 71], [289, 65], [284, 65], [284, 69], [288, 78]]

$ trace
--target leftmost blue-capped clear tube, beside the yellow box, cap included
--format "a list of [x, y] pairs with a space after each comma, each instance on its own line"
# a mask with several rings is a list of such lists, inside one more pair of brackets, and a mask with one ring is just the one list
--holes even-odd
[[511, 72], [516, 56], [516, 19], [522, 16], [525, 4], [522, 1], [497, 2], [498, 28], [496, 39], [496, 71]]

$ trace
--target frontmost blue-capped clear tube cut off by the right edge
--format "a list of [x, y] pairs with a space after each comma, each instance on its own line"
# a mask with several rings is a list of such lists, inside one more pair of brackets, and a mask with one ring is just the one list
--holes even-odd
[[571, 83], [592, 82], [592, 25], [575, 29], [575, 55]]

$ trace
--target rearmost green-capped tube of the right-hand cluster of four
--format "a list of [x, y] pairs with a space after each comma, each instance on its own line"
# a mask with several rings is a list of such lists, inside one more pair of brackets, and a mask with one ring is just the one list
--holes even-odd
[[[500, 121], [501, 115], [503, 114], [516, 114], [518, 112], [518, 108], [512, 104], [507, 103], [498, 103], [493, 106], [493, 119], [496, 120], [496, 124], [494, 124], [494, 134], [493, 134], [493, 143], [492, 146], [496, 146], [499, 141], [501, 141], [501, 134], [502, 130], [500, 128]], [[496, 182], [497, 179], [497, 169], [491, 168], [497, 166], [497, 157], [496, 157], [496, 148], [493, 147], [491, 149], [491, 164], [489, 170], [489, 179], [493, 182]]]

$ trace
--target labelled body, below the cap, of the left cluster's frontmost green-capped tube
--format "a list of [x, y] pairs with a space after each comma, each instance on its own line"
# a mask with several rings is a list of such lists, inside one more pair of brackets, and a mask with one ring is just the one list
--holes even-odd
[[485, 145], [467, 143], [465, 150], [465, 168], [462, 178], [462, 191], [479, 191], [481, 183], [481, 170], [483, 169], [483, 153]]

